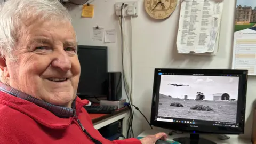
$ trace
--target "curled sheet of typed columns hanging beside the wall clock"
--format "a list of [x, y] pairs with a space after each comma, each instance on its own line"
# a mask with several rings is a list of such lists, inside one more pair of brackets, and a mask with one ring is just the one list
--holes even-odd
[[184, 0], [181, 3], [177, 49], [179, 53], [212, 53], [217, 45], [223, 2]]

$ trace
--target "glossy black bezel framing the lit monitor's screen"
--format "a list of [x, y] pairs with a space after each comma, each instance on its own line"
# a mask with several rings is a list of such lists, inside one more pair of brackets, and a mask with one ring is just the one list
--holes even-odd
[[[188, 73], [188, 74], [237, 74], [241, 75], [241, 81], [239, 79], [239, 84], [241, 83], [243, 89], [241, 94], [238, 95], [238, 100], [241, 101], [241, 107], [237, 108], [240, 111], [241, 118], [239, 121], [239, 127], [223, 127], [223, 126], [209, 126], [209, 125], [199, 125], [198, 127], [191, 127], [191, 124], [185, 123], [172, 123], [172, 122], [159, 122], [155, 120], [156, 110], [158, 103], [155, 102], [155, 97], [157, 94], [157, 89], [159, 88], [157, 78], [158, 73]], [[207, 133], [207, 134], [243, 134], [245, 125], [245, 106], [246, 106], [246, 92], [247, 92], [247, 76], [248, 70], [232, 70], [232, 69], [171, 69], [171, 68], [155, 68], [154, 71], [154, 83], [153, 83], [153, 95], [151, 104], [151, 117], [150, 124], [156, 127], [162, 127], [164, 129], [177, 130], [188, 133]], [[159, 94], [159, 92], [158, 92]]]

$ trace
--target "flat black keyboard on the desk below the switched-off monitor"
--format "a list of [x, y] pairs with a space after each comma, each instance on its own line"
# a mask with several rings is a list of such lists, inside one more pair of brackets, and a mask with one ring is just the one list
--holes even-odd
[[101, 105], [92, 105], [84, 106], [89, 114], [110, 114], [114, 113], [117, 109], [117, 106], [101, 106]]

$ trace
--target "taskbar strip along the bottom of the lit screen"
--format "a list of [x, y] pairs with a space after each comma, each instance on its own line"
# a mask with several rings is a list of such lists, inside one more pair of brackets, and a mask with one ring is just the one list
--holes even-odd
[[230, 122], [215, 122], [215, 121], [202, 121], [196, 119], [182, 119], [182, 118], [171, 118], [171, 117], [155, 117], [158, 122], [170, 122], [170, 123], [181, 123], [181, 124], [196, 124], [196, 125], [212, 125], [212, 126], [222, 126], [222, 127], [234, 127], [238, 128], [238, 123]]

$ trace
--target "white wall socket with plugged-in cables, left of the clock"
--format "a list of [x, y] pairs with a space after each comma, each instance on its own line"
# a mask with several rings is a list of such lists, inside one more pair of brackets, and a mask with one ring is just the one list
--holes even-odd
[[122, 4], [124, 3], [124, 8], [122, 15], [125, 16], [138, 16], [138, 2], [137, 1], [127, 1], [127, 2], [116, 2], [115, 12], [117, 16], [121, 16]]

